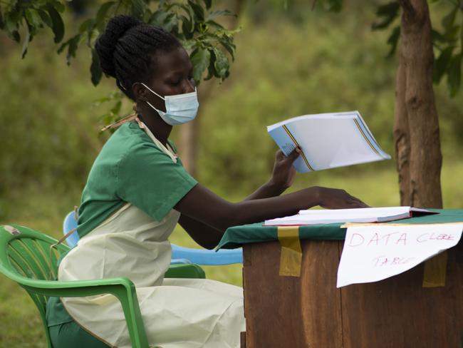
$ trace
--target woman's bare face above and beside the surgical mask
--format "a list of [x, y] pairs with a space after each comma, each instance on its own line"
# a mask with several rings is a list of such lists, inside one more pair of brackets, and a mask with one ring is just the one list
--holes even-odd
[[[155, 67], [147, 86], [160, 96], [194, 92], [193, 66], [183, 47], [158, 53], [152, 57]], [[165, 111], [164, 101], [145, 88], [145, 98], [155, 108]]]

